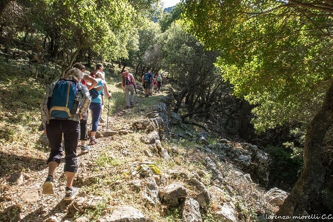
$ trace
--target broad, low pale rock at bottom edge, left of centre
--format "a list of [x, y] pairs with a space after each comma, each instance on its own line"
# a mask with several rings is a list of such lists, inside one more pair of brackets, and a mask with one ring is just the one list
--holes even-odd
[[120, 207], [107, 217], [99, 219], [97, 222], [147, 222], [145, 216], [131, 206]]

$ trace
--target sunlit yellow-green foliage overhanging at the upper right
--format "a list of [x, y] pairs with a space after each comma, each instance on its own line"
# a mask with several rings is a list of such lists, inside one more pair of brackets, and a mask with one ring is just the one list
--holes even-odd
[[321, 28], [330, 27], [332, 17], [277, 0], [191, 0], [184, 11], [189, 30], [220, 50], [216, 65], [234, 94], [257, 105], [259, 131], [312, 119], [332, 79], [333, 40]]

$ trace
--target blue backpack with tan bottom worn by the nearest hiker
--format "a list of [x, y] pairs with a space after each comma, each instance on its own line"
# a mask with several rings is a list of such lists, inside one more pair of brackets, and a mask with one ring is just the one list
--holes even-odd
[[80, 85], [74, 80], [61, 79], [47, 100], [47, 108], [50, 115], [58, 119], [67, 119], [76, 114], [79, 107]]

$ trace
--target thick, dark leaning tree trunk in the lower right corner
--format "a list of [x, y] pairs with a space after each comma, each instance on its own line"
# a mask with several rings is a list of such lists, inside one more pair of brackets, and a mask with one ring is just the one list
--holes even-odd
[[[304, 145], [304, 169], [292, 192], [276, 214], [274, 222], [294, 222], [293, 216], [302, 215], [311, 199], [324, 183], [325, 169], [322, 162], [322, 143], [333, 123], [333, 80], [322, 109], [312, 119], [307, 129]], [[291, 217], [288, 220], [283, 216]], [[280, 217], [280, 218], [278, 218]]]

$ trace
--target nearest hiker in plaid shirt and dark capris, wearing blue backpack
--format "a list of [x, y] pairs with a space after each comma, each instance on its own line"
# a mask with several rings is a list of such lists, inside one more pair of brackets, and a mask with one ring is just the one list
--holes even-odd
[[[77, 188], [73, 187], [72, 184], [75, 173], [77, 172], [76, 147], [80, 136], [79, 121], [87, 112], [90, 105], [89, 91], [87, 87], [84, 87], [80, 83], [82, 77], [82, 72], [79, 69], [70, 69], [63, 77], [63, 79], [70, 81], [59, 80], [49, 85], [41, 104], [41, 119], [44, 133], [46, 133], [51, 146], [50, 155], [47, 160], [48, 176], [42, 186], [42, 194], [53, 194], [53, 174], [56, 167], [59, 166], [62, 157], [63, 136], [65, 149], [64, 171], [67, 178], [64, 200], [73, 200], [78, 193]], [[70, 89], [70, 91], [68, 89]], [[68, 92], [70, 93], [68, 94]], [[63, 96], [61, 97], [60, 95]], [[69, 96], [67, 97], [67, 95]], [[73, 106], [69, 114], [69, 111], [63, 111], [63, 109], [61, 109], [64, 108], [61, 105], [63, 103], [66, 104], [66, 100], [68, 100], [70, 96], [75, 97], [77, 103], [72, 102]], [[80, 100], [81, 102], [78, 103]], [[75, 105], [79, 107], [78, 111], [75, 109], [77, 108]], [[69, 107], [67, 109], [69, 109]], [[72, 114], [72, 112], [74, 114]]]

